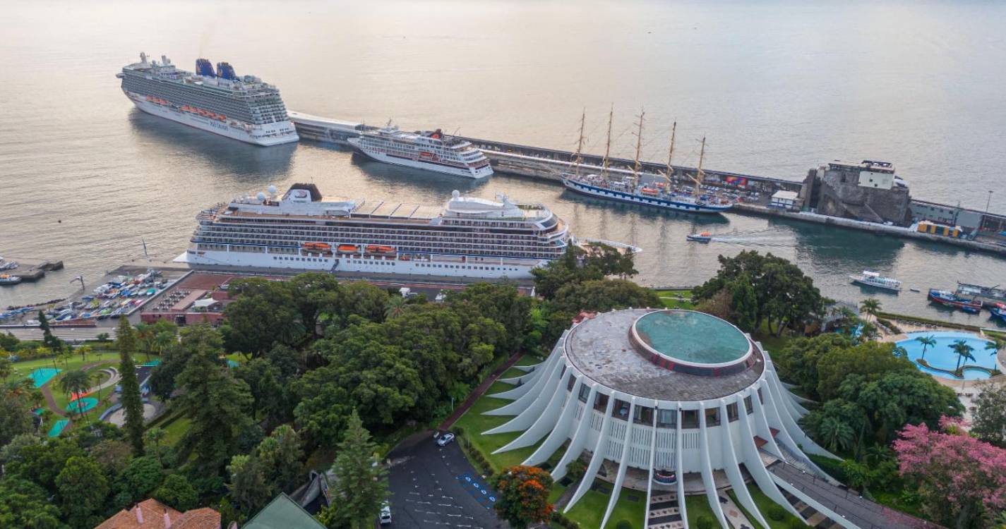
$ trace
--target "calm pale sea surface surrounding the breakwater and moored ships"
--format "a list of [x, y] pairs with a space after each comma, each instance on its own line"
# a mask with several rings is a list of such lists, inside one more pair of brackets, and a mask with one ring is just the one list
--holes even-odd
[[[146, 51], [192, 69], [229, 61], [280, 86], [291, 110], [404, 128], [800, 179], [832, 159], [893, 162], [919, 198], [1006, 210], [1002, 2], [30, 2], [0, 10], [0, 255], [62, 259], [0, 306], [92, 287], [106, 270], [182, 252], [194, 215], [270, 184], [437, 204], [451, 190], [546, 203], [575, 233], [631, 242], [641, 283], [694, 285], [716, 255], [793, 259], [832, 298], [863, 269], [905, 287], [1006, 283], [1006, 260], [952, 246], [740, 215], [695, 218], [592, 201], [561, 186], [488, 182], [361, 162], [305, 142], [259, 148], [136, 111], [117, 71]], [[685, 241], [695, 230], [721, 241]], [[884, 308], [936, 315], [924, 294]], [[985, 323], [987, 315], [944, 314]]]

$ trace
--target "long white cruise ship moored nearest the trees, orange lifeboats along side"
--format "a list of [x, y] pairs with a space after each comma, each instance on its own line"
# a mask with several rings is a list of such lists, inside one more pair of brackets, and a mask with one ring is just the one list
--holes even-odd
[[314, 184], [294, 184], [277, 199], [270, 186], [269, 194], [238, 197], [196, 218], [191, 245], [175, 260], [197, 268], [525, 279], [579, 243], [541, 204], [458, 191], [443, 206], [423, 206], [323, 197]]

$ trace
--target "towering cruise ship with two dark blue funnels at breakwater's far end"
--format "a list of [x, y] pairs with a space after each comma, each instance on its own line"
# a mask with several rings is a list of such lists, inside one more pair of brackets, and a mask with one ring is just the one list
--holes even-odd
[[178, 69], [168, 57], [124, 66], [116, 76], [123, 93], [143, 112], [196, 129], [270, 146], [296, 142], [297, 131], [276, 86], [234, 73], [226, 62], [195, 61], [195, 72]]

